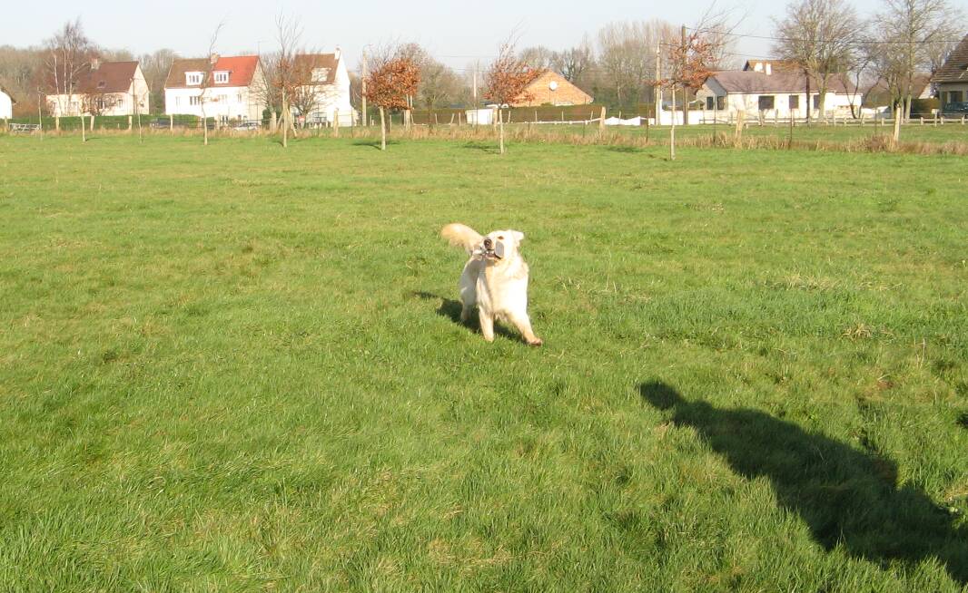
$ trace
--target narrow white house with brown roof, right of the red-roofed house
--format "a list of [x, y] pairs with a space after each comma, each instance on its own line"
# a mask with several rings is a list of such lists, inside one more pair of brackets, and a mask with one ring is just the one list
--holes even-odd
[[349, 103], [349, 72], [340, 48], [334, 53], [299, 54], [293, 62], [305, 82], [292, 98], [294, 114], [328, 124], [339, 111], [340, 126], [352, 126], [356, 112]]

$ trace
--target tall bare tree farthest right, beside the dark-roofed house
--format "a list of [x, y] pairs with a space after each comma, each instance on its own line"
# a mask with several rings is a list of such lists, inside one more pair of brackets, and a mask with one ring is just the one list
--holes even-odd
[[883, 0], [874, 16], [872, 61], [895, 85], [903, 101], [904, 117], [911, 117], [914, 79], [919, 70], [935, 71], [960, 37], [962, 18], [948, 0]]

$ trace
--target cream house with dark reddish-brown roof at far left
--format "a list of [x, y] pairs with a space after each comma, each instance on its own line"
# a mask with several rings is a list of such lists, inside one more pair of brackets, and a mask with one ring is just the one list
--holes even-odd
[[137, 62], [95, 58], [77, 72], [74, 93], [46, 96], [54, 117], [148, 113], [148, 84]]

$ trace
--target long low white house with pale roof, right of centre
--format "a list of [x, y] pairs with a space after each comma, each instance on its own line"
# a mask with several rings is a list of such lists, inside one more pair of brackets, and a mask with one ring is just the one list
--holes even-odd
[[[780, 63], [782, 64], [782, 63]], [[779, 68], [774, 61], [747, 62], [741, 71], [714, 71], [696, 93], [707, 115], [742, 111], [747, 118], [806, 117], [806, 78], [800, 71]], [[861, 106], [861, 93], [844, 76], [834, 75], [820, 113], [819, 81], [810, 80], [810, 117], [849, 117], [851, 105]]]

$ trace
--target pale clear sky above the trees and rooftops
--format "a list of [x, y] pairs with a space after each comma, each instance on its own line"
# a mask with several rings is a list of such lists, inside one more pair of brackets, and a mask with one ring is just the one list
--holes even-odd
[[[861, 14], [873, 11], [878, 0], [856, 0]], [[295, 15], [303, 22], [303, 41], [329, 50], [340, 45], [350, 67], [355, 67], [367, 43], [419, 42], [445, 64], [464, 68], [479, 56], [486, 63], [498, 43], [518, 26], [519, 47], [547, 45], [570, 47], [585, 33], [594, 33], [613, 20], [662, 18], [689, 25], [709, 6], [710, 0], [674, 2], [577, 2], [575, 0], [483, 0], [477, 2], [298, 1], [269, 4], [253, 0], [185, 2], [172, 0], [166, 8], [148, 8], [143, 2], [77, 3], [64, 0], [15, 2], [0, 23], [0, 43], [16, 46], [40, 44], [64, 21], [80, 16], [95, 42], [110, 48], [127, 48], [136, 54], [170, 47], [182, 55], [201, 55], [220, 20], [226, 24], [218, 49], [224, 55], [263, 51], [274, 45], [277, 14]], [[724, 2], [719, 9], [741, 20], [737, 31], [770, 35], [771, 16], [783, 13], [784, 2], [743, 0]], [[770, 54], [770, 42], [740, 40], [738, 53]], [[450, 57], [453, 56], [453, 57]], [[739, 58], [737, 58], [739, 59]]]

